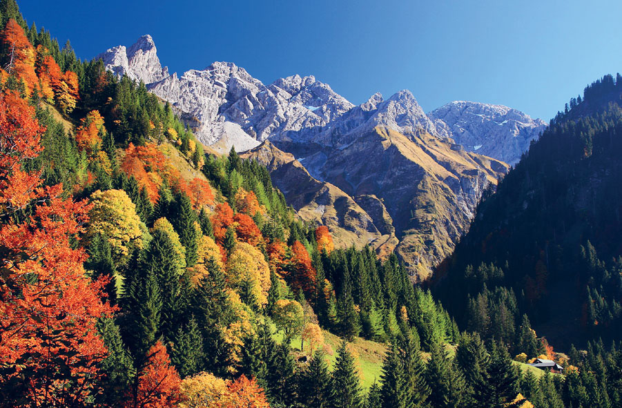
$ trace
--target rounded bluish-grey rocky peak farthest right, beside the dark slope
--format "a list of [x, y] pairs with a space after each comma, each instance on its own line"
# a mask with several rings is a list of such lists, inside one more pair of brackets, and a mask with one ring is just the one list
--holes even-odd
[[428, 113], [441, 137], [471, 152], [516, 164], [547, 124], [501, 105], [454, 101]]

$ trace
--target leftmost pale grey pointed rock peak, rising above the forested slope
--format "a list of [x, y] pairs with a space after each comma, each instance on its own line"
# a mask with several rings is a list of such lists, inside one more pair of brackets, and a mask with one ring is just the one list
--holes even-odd
[[157, 49], [150, 35], [144, 35], [126, 49], [125, 46], [110, 48], [95, 57], [104, 61], [106, 69], [117, 75], [126, 74], [130, 79], [143, 81], [145, 84], [168, 77], [168, 68], [162, 68]]

